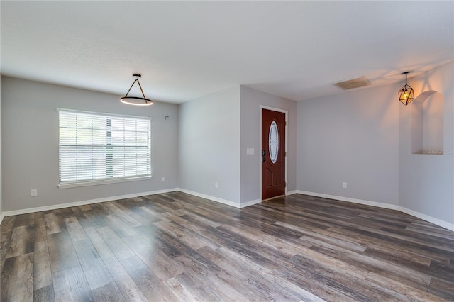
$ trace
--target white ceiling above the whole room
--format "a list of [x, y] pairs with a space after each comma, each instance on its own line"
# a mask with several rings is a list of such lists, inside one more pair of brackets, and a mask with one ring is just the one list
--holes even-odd
[[1, 74], [182, 103], [238, 84], [295, 101], [454, 60], [454, 1], [1, 1]]

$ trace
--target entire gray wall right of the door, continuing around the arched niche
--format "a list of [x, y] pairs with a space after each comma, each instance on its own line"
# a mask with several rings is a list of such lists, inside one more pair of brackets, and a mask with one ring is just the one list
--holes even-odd
[[300, 101], [297, 189], [388, 203], [450, 228], [454, 62], [411, 77], [409, 85], [415, 96], [432, 90], [443, 96], [444, 155], [411, 154], [413, 105], [397, 100], [400, 83]]

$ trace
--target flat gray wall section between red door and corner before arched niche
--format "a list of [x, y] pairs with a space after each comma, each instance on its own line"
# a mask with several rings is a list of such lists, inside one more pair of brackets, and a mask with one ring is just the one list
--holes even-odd
[[378, 86], [299, 101], [297, 188], [397, 206], [398, 90]]

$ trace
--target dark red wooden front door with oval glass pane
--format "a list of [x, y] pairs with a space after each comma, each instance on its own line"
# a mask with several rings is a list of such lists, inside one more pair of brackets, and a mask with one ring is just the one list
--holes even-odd
[[285, 194], [285, 113], [262, 109], [262, 200]]

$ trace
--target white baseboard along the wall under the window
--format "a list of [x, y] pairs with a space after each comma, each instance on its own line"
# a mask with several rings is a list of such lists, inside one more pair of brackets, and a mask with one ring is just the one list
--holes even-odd
[[120, 195], [120, 196], [110, 196], [110, 197], [104, 197], [104, 198], [90, 199], [87, 201], [74, 201], [74, 202], [70, 202], [70, 203], [54, 204], [51, 206], [38, 206], [36, 208], [24, 208], [22, 210], [6, 211], [6, 212], [1, 213], [1, 220], [3, 220], [3, 218], [6, 216], [28, 214], [28, 213], [34, 213], [34, 212], [40, 212], [40, 211], [56, 210], [57, 208], [70, 208], [72, 206], [84, 206], [86, 204], [92, 204], [92, 203], [100, 203], [100, 202], [105, 202], [105, 201], [116, 201], [116, 200], [125, 199], [125, 198], [134, 198], [134, 197], [162, 194], [162, 193], [175, 192], [175, 191], [178, 191], [178, 188], [141, 192], [141, 193], [127, 194], [127, 195]]

